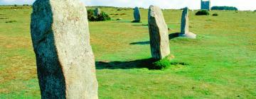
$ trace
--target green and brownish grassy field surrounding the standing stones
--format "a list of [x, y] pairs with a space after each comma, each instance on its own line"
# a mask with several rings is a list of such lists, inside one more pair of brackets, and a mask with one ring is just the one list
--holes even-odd
[[[90, 22], [100, 98], [256, 98], [256, 12], [190, 11], [198, 38], [170, 38], [171, 67], [149, 70], [147, 9], [142, 23], [131, 23], [132, 8], [102, 11], [112, 21]], [[181, 10], [163, 12], [169, 34], [178, 33]], [[30, 7], [0, 7], [0, 98], [41, 98], [30, 14]]]

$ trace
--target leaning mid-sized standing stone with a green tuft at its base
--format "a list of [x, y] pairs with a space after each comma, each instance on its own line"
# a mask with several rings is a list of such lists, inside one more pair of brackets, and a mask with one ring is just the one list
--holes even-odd
[[157, 6], [149, 7], [149, 35], [151, 55], [154, 59], [164, 59], [170, 54], [168, 27], [164, 15]]

